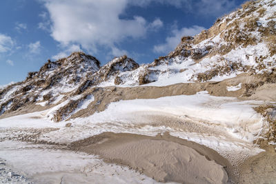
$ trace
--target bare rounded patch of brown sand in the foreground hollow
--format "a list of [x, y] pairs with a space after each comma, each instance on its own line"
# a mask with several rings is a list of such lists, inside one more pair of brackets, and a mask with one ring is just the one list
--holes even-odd
[[[97, 154], [104, 161], [128, 165], [156, 181], [227, 183], [235, 181], [231, 166], [204, 145], [170, 136], [155, 137], [105, 132], [77, 141], [73, 150]], [[228, 175], [229, 173], [229, 175]]]

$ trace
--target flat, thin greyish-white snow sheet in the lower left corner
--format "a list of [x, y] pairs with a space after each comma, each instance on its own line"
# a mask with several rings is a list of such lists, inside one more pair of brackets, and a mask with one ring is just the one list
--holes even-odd
[[[56, 150], [46, 145], [3, 141], [0, 158], [5, 159], [12, 170], [28, 177], [27, 180], [17, 174], [20, 180], [15, 180], [14, 176], [10, 180], [14, 183], [159, 183], [128, 167], [104, 163], [97, 156]], [[9, 173], [14, 173], [12, 170]]]

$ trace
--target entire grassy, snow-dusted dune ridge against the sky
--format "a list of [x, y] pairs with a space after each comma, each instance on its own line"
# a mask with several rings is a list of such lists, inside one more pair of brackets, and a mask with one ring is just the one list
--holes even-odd
[[[276, 3], [250, 1], [195, 37], [183, 37], [166, 57], [139, 66], [128, 57], [100, 67], [82, 52], [48, 61], [25, 81], [0, 90], [0, 114], [24, 105], [55, 105], [95, 86], [164, 86], [175, 83], [222, 81], [246, 73], [276, 81]], [[259, 84], [258, 84], [259, 85]], [[81, 101], [86, 99], [83, 97]], [[75, 103], [75, 107], [79, 103]]]

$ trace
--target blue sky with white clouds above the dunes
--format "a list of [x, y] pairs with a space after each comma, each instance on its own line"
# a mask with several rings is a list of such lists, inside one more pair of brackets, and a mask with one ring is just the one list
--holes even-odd
[[245, 0], [1, 0], [0, 86], [83, 51], [151, 63]]

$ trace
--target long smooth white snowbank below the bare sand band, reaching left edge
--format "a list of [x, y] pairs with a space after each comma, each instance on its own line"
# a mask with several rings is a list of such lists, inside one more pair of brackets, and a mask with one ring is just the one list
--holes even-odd
[[[94, 96], [88, 96], [77, 110], [87, 108], [92, 101]], [[68, 100], [64, 103], [67, 102]], [[118, 101], [110, 103], [106, 110], [92, 116], [53, 123], [48, 116], [57, 110], [57, 106], [62, 106], [59, 104], [50, 110], [0, 119], [0, 128], [56, 127], [59, 130], [43, 134], [40, 139], [57, 143], [70, 143], [102, 132], [130, 132], [155, 136], [166, 131], [192, 131], [198, 135], [213, 134], [218, 140], [220, 137], [226, 137], [228, 142], [235, 140], [237, 143], [252, 145], [252, 141], [266, 128], [266, 121], [253, 110], [253, 107], [260, 104], [262, 101], [239, 101], [236, 98], [210, 96], [206, 92], [199, 92], [190, 96]], [[175, 127], [170, 125], [170, 121], [156, 119], [158, 116], [188, 122], [193, 130], [186, 130], [188, 127], [185, 126]], [[152, 124], [156, 122], [160, 124]], [[66, 123], [72, 123], [72, 127], [65, 127]]]

